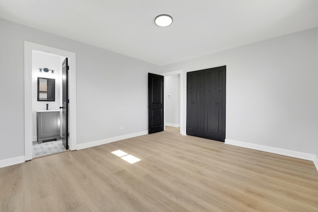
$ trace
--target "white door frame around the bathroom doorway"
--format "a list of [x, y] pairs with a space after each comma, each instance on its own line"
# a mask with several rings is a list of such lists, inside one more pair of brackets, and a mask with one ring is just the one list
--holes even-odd
[[76, 127], [76, 54], [49, 46], [24, 41], [24, 158], [32, 159], [32, 50], [51, 53], [69, 59], [69, 126], [70, 150], [77, 149]]

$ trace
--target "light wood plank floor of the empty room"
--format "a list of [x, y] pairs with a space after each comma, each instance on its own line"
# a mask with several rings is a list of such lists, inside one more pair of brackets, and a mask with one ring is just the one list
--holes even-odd
[[313, 162], [178, 131], [1, 168], [0, 212], [318, 212]]

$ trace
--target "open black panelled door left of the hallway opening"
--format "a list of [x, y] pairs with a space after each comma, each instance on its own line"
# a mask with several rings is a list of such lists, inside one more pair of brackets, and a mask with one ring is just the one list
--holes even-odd
[[148, 132], [163, 131], [163, 76], [148, 73]]

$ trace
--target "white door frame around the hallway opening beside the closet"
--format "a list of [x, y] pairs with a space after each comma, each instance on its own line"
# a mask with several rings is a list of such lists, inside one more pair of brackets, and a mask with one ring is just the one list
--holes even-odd
[[[186, 80], [186, 74], [183, 70], [177, 70], [177, 71], [170, 71], [162, 73], [163, 76], [169, 76], [169, 75], [176, 75], [180, 74], [180, 134], [183, 136], [186, 136], [186, 114], [184, 111], [186, 111], [186, 104], [184, 101], [186, 101], [185, 91], [186, 87], [184, 88], [184, 81]], [[186, 84], [185, 84], [186, 85]], [[163, 96], [163, 123], [165, 124], [165, 95]], [[165, 129], [165, 126], [164, 126]]]

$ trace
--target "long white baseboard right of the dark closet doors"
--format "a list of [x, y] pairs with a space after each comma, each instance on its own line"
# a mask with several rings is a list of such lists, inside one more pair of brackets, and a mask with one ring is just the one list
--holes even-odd
[[296, 158], [305, 159], [305, 160], [311, 160], [311, 161], [314, 161], [314, 157], [316, 157], [316, 155], [314, 154], [309, 154], [305, 152], [293, 151], [293, 150], [288, 150], [283, 148], [276, 148], [272, 146], [265, 146], [265, 145], [255, 144], [255, 143], [235, 141], [230, 139], [225, 139], [225, 143], [235, 145], [235, 146], [250, 148], [250, 149], [256, 149], [260, 151], [266, 151], [266, 152], [275, 153], [275, 154], [281, 154], [281, 155], [290, 156], [290, 157], [296, 157]]

